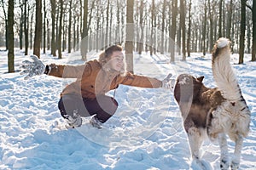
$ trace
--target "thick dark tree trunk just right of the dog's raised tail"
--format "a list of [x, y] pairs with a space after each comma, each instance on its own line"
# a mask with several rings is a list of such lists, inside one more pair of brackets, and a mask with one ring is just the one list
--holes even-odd
[[238, 62], [238, 64], [243, 63], [245, 30], [246, 30], [246, 1], [241, 0], [241, 23], [240, 23], [240, 42], [239, 42], [239, 62]]

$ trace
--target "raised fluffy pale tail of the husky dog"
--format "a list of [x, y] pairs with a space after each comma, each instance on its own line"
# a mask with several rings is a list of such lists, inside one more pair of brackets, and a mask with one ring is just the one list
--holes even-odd
[[241, 100], [241, 89], [230, 65], [230, 40], [221, 37], [212, 49], [212, 73], [225, 99]]

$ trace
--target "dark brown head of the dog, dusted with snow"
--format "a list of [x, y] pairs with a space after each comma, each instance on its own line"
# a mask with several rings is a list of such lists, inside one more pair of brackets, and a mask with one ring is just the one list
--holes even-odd
[[174, 88], [174, 97], [179, 104], [180, 102], [195, 102], [200, 95], [201, 87], [204, 86], [202, 81], [204, 77], [192, 77], [189, 74], [181, 74], [177, 77]]

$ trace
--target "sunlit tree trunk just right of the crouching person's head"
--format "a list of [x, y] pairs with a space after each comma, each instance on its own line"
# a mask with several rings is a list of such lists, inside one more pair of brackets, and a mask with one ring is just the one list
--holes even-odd
[[125, 60], [127, 71], [133, 72], [133, 5], [134, 0], [126, 1], [126, 40], [125, 40]]

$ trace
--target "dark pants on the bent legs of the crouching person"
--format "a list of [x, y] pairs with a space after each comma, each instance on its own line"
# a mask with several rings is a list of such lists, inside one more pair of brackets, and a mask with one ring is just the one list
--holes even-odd
[[82, 117], [96, 114], [96, 118], [100, 122], [106, 122], [117, 110], [118, 103], [106, 95], [97, 96], [96, 99], [82, 98], [78, 95], [64, 95], [58, 106], [61, 116], [64, 118], [74, 116], [74, 113], [78, 113]]

